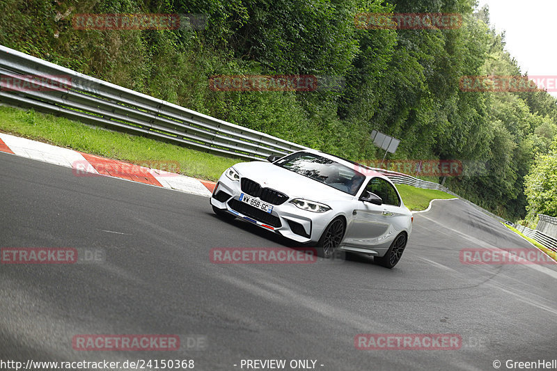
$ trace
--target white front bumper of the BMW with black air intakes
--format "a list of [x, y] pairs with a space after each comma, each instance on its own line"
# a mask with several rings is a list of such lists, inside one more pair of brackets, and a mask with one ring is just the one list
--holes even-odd
[[316, 213], [299, 209], [288, 202], [292, 200], [292, 195], [288, 195], [289, 198], [285, 203], [273, 205], [272, 212], [268, 214], [242, 203], [240, 201], [242, 193], [244, 192], [240, 187], [240, 181], [230, 180], [226, 175], [222, 175], [217, 187], [214, 188], [210, 203], [261, 228], [272, 230], [303, 244], [317, 242], [332, 219], [332, 210]]

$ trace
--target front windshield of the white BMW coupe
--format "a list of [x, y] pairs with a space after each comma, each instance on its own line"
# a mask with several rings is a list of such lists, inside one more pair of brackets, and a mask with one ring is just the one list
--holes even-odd
[[297, 152], [274, 163], [281, 168], [294, 171], [304, 177], [327, 184], [352, 196], [360, 189], [365, 175], [331, 159], [308, 152]]

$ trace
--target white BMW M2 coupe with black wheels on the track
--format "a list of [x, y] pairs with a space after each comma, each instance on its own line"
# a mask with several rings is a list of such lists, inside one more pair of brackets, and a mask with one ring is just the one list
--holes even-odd
[[226, 169], [210, 200], [217, 215], [316, 246], [324, 258], [340, 249], [387, 268], [399, 262], [413, 218], [389, 178], [317, 150], [267, 160]]

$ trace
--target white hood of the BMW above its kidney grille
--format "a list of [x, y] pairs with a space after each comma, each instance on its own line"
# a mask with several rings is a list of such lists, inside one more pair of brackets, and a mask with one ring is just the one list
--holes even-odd
[[293, 171], [273, 165], [270, 162], [242, 162], [235, 164], [233, 168], [240, 173], [240, 177], [249, 177], [249, 179], [258, 182], [261, 187], [281, 191], [290, 198], [308, 198], [314, 201], [343, 198], [352, 200], [354, 198], [350, 194], [304, 177], [304, 175], [299, 175]]

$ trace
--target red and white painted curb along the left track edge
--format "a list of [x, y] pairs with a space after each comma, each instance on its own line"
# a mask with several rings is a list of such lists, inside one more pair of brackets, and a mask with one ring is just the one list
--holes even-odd
[[216, 184], [3, 133], [0, 133], [0, 152], [72, 168], [76, 176], [117, 177], [198, 196], [210, 197]]

